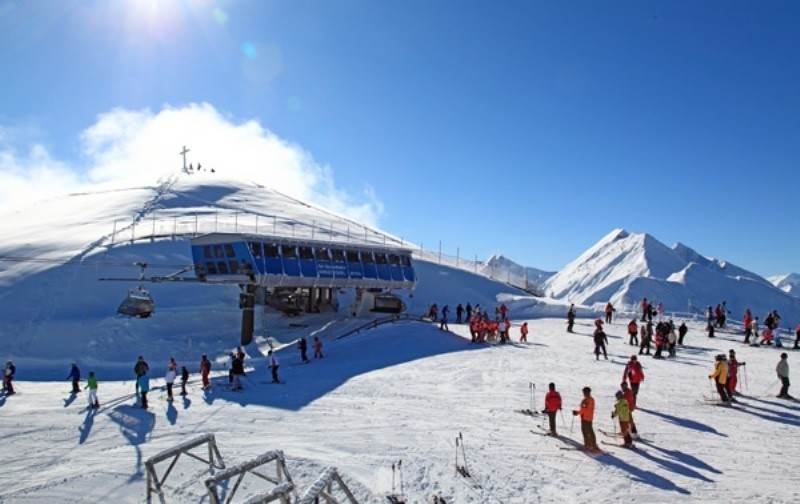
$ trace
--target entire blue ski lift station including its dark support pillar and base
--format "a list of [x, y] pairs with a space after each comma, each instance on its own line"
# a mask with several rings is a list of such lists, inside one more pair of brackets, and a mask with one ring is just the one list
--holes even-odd
[[193, 238], [191, 248], [199, 281], [242, 286], [242, 344], [252, 340], [257, 297], [283, 302], [276, 307], [292, 314], [336, 305], [339, 289], [354, 288], [369, 309], [400, 312], [402, 301], [391, 291], [417, 283], [411, 250], [391, 245], [211, 233]]

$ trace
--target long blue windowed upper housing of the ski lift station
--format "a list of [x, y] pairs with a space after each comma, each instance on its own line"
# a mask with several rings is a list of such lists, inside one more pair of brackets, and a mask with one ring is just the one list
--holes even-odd
[[212, 233], [192, 239], [195, 275], [263, 287], [413, 289], [408, 249], [276, 236]]

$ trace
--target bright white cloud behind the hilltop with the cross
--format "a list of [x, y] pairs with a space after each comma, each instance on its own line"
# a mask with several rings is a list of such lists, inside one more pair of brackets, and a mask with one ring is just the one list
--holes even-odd
[[54, 160], [39, 145], [25, 156], [0, 151], [0, 208], [79, 190], [84, 184], [143, 185], [187, 163], [220, 177], [251, 180], [290, 196], [374, 225], [383, 206], [371, 191], [337, 188], [333, 170], [300, 146], [278, 138], [258, 121], [234, 122], [207, 103], [181, 108], [114, 109], [80, 134], [80, 166]]

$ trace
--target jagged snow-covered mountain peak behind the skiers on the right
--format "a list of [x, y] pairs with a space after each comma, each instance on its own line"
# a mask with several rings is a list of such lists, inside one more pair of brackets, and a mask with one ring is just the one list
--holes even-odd
[[648, 234], [615, 229], [544, 285], [555, 299], [576, 304], [634, 309], [642, 298], [673, 312], [701, 312], [723, 301], [735, 319], [746, 308], [755, 314], [776, 309], [790, 320], [800, 316], [797, 298], [755, 273], [709, 259], [678, 243], [667, 247]]

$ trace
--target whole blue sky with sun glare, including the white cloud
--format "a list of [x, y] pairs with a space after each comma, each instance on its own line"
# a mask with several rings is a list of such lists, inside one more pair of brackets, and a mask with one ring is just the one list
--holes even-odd
[[799, 22], [793, 1], [0, 0], [0, 206], [186, 144], [470, 259], [554, 271], [621, 227], [798, 272]]

